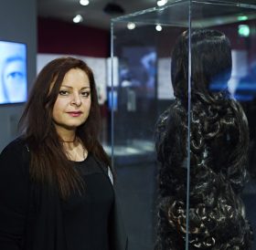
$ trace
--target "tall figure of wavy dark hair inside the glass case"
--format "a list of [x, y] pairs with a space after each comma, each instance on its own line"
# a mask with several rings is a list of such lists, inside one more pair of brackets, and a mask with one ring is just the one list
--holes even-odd
[[228, 83], [230, 78], [229, 39], [215, 30], [191, 32], [188, 139], [188, 36], [184, 32], [176, 41], [171, 67], [176, 99], [160, 116], [155, 132], [157, 158], [161, 163], [155, 249], [185, 249], [188, 214], [189, 249], [249, 250], [252, 231], [240, 199], [247, 181], [247, 119], [227, 90], [209, 90], [210, 84]]

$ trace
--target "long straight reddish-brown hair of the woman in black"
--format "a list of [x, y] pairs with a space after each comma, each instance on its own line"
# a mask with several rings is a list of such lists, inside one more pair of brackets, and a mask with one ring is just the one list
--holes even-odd
[[80, 175], [67, 158], [52, 120], [52, 109], [58, 98], [61, 83], [71, 68], [83, 70], [90, 80], [91, 87], [90, 114], [76, 130], [76, 136], [92, 155], [110, 166], [110, 160], [98, 140], [101, 117], [93, 73], [91, 68], [78, 58], [54, 59], [40, 71], [19, 122], [31, 151], [31, 179], [50, 185], [57, 184], [62, 198], [67, 198], [72, 190], [80, 190], [82, 186]]

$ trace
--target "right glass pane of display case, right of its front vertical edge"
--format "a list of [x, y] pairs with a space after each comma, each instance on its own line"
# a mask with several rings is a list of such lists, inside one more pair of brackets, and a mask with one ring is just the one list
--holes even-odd
[[256, 249], [255, 15], [191, 2], [189, 249]]

